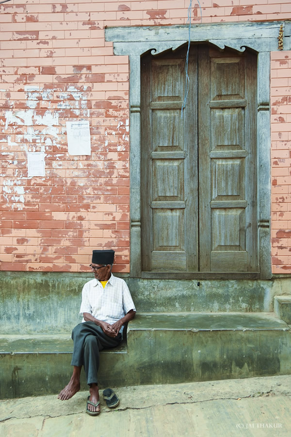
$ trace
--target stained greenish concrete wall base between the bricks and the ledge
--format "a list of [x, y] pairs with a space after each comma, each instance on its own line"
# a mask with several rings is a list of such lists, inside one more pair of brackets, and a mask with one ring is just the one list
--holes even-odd
[[[273, 311], [275, 295], [290, 293], [291, 278], [166, 280], [122, 276], [138, 312]], [[88, 273], [0, 272], [1, 333], [70, 333], [81, 321]]]

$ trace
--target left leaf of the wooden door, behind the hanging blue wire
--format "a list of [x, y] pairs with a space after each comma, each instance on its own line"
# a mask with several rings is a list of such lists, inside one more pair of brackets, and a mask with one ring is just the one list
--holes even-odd
[[[196, 48], [191, 49], [196, 59]], [[197, 116], [181, 118], [186, 50], [142, 60], [143, 269], [198, 269]], [[196, 78], [197, 62], [189, 68]], [[170, 80], [169, 80], [170, 79]], [[187, 112], [196, 113], [196, 79]], [[191, 184], [189, 184], [191, 179]], [[196, 194], [193, 194], [196, 186]], [[142, 187], [143, 191], [143, 187]], [[190, 234], [189, 234], [190, 233]], [[189, 238], [191, 235], [191, 238]]]

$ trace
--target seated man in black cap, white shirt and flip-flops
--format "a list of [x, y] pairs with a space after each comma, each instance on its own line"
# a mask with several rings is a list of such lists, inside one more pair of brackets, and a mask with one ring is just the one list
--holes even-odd
[[[92, 416], [100, 413], [97, 382], [99, 351], [118, 346], [124, 323], [135, 316], [126, 282], [111, 273], [113, 260], [113, 250], [93, 251], [90, 268], [95, 279], [83, 286], [80, 308], [83, 320], [72, 332], [74, 351], [71, 365], [74, 370], [69, 383], [58, 395], [58, 399], [66, 401], [80, 390], [80, 374], [84, 366], [90, 387], [86, 412]], [[113, 408], [118, 405], [119, 400], [111, 389], [104, 390], [103, 396], [107, 406]]]

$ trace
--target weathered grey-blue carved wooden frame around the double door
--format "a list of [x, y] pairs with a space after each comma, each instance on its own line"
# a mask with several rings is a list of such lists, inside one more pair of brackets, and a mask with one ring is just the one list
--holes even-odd
[[[260, 278], [271, 278], [271, 125], [270, 125], [270, 52], [278, 50], [278, 35], [283, 24], [283, 47], [291, 47], [291, 22], [239, 22], [224, 24], [192, 25], [190, 39], [193, 42], [209, 42], [224, 49], [238, 51], [250, 48], [258, 54], [258, 235]], [[188, 26], [109, 27], [105, 29], [106, 41], [113, 41], [116, 55], [129, 55], [129, 105], [130, 105], [130, 276], [143, 277], [141, 269], [141, 55], [151, 50], [158, 54], [164, 50], [176, 50], [188, 42]], [[169, 278], [166, 276], [159, 276]], [[188, 273], [185, 279], [192, 279]], [[200, 274], [195, 274], [198, 278]], [[203, 274], [202, 274], [203, 276]], [[201, 277], [202, 277], [201, 276]], [[219, 273], [213, 278], [228, 278]], [[153, 276], [154, 277], [154, 276]], [[242, 276], [246, 278], [245, 274]], [[193, 277], [194, 278], [194, 277]], [[236, 276], [239, 279], [239, 275]]]

